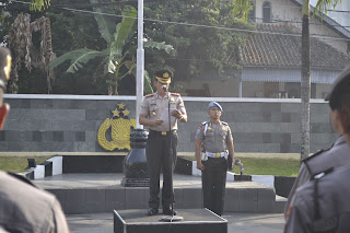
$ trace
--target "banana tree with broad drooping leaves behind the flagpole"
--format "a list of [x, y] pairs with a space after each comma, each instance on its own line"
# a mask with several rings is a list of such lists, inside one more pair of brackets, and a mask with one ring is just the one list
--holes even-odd
[[[95, 0], [91, 0], [92, 3]], [[71, 60], [67, 72], [74, 73], [79, 71], [90, 60], [100, 57], [101, 62], [105, 63], [105, 75], [110, 77], [108, 79], [108, 94], [118, 94], [118, 82], [127, 74], [136, 77], [136, 51], [137, 45], [132, 40], [136, 33], [136, 15], [137, 10], [135, 8], [128, 8], [122, 12], [122, 21], [115, 26], [115, 23], [108, 20], [105, 15], [98, 14], [102, 12], [100, 8], [94, 9], [96, 12], [95, 20], [98, 25], [98, 31], [102, 37], [107, 42], [107, 48], [103, 50], [93, 50], [82, 48], [73, 51], [69, 51], [50, 63], [50, 68], [55, 68], [66, 60]], [[153, 40], [145, 40], [143, 43], [144, 48], [164, 50], [167, 54], [174, 53], [174, 48], [171, 45], [158, 43]], [[144, 72], [144, 91], [147, 93], [153, 92], [151, 85], [151, 79], [148, 73]]]

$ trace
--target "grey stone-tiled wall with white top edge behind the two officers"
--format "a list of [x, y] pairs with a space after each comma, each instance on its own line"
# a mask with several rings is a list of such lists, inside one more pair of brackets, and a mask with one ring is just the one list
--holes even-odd
[[[5, 95], [11, 104], [0, 151], [103, 152], [97, 130], [117, 104], [135, 118], [133, 96]], [[236, 152], [298, 153], [301, 143], [300, 100], [184, 97], [188, 123], [179, 124], [178, 151], [195, 151], [195, 133], [208, 120], [210, 101], [222, 104], [222, 120], [232, 128]], [[106, 138], [108, 137], [108, 130]], [[336, 139], [323, 101], [311, 104], [311, 151]]]

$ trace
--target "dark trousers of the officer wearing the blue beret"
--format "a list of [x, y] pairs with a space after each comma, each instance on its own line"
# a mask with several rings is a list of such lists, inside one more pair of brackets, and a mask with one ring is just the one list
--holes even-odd
[[202, 161], [202, 164], [205, 165], [205, 170], [201, 173], [203, 206], [221, 215], [225, 199], [226, 159], [208, 158], [207, 161]]

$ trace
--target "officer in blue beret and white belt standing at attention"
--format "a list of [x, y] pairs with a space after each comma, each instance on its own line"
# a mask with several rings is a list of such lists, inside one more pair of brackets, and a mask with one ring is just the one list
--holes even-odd
[[[229, 124], [220, 120], [221, 114], [220, 104], [209, 103], [210, 121], [198, 127], [195, 138], [197, 168], [202, 172], [203, 206], [219, 215], [223, 212], [226, 171], [234, 163], [231, 129]], [[229, 154], [232, 164], [228, 164]]]

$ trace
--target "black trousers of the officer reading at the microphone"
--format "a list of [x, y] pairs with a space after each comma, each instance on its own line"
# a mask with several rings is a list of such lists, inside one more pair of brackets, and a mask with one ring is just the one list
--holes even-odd
[[[173, 154], [170, 154], [170, 136], [172, 137]], [[160, 206], [160, 174], [163, 171], [162, 206], [170, 207], [174, 202], [173, 173], [176, 164], [177, 132], [167, 131], [162, 136], [159, 131], [150, 130], [145, 145], [147, 164], [150, 174], [149, 207]], [[173, 200], [172, 200], [173, 199]]]

